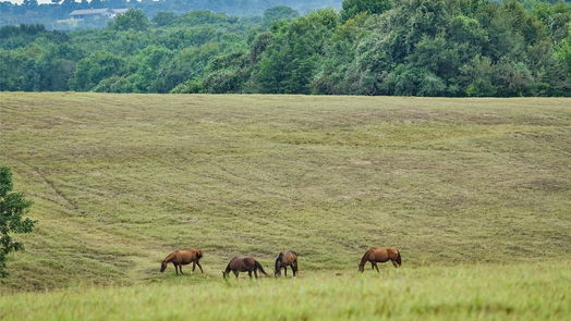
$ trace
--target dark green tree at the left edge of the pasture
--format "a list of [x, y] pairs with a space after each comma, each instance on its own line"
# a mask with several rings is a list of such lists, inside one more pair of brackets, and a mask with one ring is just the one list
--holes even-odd
[[24, 249], [24, 245], [12, 239], [10, 234], [32, 232], [35, 221], [22, 218], [27, 213], [32, 201], [22, 193], [12, 190], [12, 173], [9, 168], [0, 166], [0, 277], [5, 277], [5, 261], [10, 252]]

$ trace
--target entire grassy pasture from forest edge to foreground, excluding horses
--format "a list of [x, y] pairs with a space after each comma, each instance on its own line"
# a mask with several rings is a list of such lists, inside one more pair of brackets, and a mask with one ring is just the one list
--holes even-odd
[[[0, 319], [569, 314], [570, 99], [1, 92], [0, 129], [38, 220]], [[294, 282], [220, 280], [286, 249]]]

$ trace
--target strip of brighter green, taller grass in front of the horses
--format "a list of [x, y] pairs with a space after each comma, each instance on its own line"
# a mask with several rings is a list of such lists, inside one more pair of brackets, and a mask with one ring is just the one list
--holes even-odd
[[[181, 276], [0, 298], [2, 320], [567, 320], [570, 261], [385, 267], [296, 280]], [[367, 273], [368, 272], [368, 273]], [[193, 279], [208, 282], [193, 282]]]

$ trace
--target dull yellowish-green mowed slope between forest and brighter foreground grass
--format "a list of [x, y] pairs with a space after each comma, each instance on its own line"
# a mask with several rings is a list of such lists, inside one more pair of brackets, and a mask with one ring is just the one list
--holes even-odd
[[38, 224], [0, 292], [175, 282], [159, 261], [185, 247], [196, 282], [290, 248], [302, 273], [351, 274], [369, 246], [403, 269], [569, 260], [569, 106], [2, 92], [0, 163]]

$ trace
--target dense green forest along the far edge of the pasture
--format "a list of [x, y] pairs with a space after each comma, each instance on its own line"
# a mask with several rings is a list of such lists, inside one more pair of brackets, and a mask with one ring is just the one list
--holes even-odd
[[571, 5], [344, 0], [262, 16], [139, 9], [102, 29], [0, 28], [1, 90], [570, 96]]

